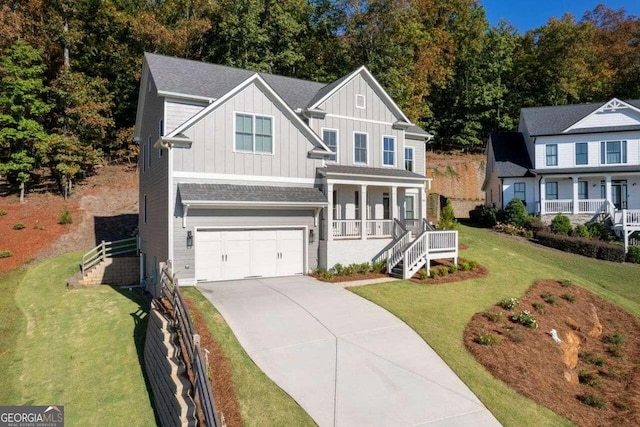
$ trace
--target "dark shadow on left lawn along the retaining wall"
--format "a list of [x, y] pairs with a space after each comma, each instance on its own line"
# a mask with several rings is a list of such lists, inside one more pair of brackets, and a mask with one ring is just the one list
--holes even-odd
[[144, 344], [147, 337], [147, 324], [149, 323], [149, 299], [140, 288], [129, 289], [126, 286], [112, 286], [112, 288], [122, 296], [129, 298], [131, 301], [138, 304], [138, 309], [133, 313], [129, 313], [129, 315], [133, 319], [134, 324], [133, 342], [136, 346], [138, 363], [140, 364], [140, 369], [142, 370], [144, 384], [147, 389], [147, 394], [149, 395], [149, 402], [151, 403], [151, 407], [153, 408], [153, 415], [155, 417], [156, 425], [160, 425], [160, 418], [158, 417], [155, 401], [153, 399], [153, 393], [151, 391], [151, 383], [149, 382], [147, 370], [144, 366]]

